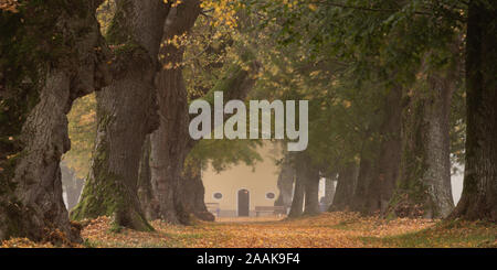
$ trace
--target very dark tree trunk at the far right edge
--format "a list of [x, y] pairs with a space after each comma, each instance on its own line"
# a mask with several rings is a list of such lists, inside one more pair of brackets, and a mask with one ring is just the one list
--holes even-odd
[[451, 218], [497, 223], [497, 9], [490, 6], [469, 2], [466, 166], [463, 195]]

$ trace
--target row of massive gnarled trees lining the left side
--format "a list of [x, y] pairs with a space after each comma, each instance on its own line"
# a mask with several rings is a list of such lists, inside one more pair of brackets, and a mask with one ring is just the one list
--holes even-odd
[[[243, 99], [256, 63], [245, 53], [219, 68], [223, 75], [212, 89], [188, 97], [182, 65], [176, 65], [184, 47], [177, 41], [193, 26], [200, 1], [102, 3], [24, 1], [2, 9], [1, 239], [43, 240], [60, 230], [81, 240], [62, 199], [60, 161], [70, 149], [66, 115], [75, 99], [95, 90], [91, 169], [71, 216], [109, 215], [117, 226], [140, 230], [152, 229], [146, 216], [212, 218], [203, 202], [182, 203], [190, 186], [178, 184], [182, 177], [199, 184], [195, 164], [183, 173], [195, 144], [187, 133], [187, 106], [214, 90]], [[203, 198], [201, 188], [195, 192]]]

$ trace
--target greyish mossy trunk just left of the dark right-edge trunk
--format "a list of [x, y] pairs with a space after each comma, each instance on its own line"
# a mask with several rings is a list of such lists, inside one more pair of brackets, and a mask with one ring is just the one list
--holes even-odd
[[405, 97], [401, 175], [391, 202], [396, 216], [443, 218], [454, 208], [448, 125], [455, 78], [450, 71], [427, 72], [426, 82], [427, 89]]

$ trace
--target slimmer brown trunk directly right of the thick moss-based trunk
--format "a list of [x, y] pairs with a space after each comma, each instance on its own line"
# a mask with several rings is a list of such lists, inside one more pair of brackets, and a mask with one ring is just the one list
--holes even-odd
[[179, 202], [183, 163], [189, 152], [189, 112], [187, 88], [182, 75], [184, 46], [169, 44], [168, 40], [187, 34], [200, 14], [200, 2], [188, 0], [168, 15], [163, 46], [165, 68], [158, 74], [160, 126], [150, 136], [150, 173], [154, 196], [159, 203], [157, 215], [171, 224], [188, 223], [189, 213]]

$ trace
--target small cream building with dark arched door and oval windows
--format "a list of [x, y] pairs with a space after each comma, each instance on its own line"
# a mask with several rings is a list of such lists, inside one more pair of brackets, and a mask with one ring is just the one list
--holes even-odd
[[254, 166], [237, 164], [220, 173], [209, 166], [202, 172], [204, 201], [216, 216], [255, 216], [256, 206], [274, 206], [279, 193], [275, 160], [281, 159], [281, 150], [265, 143], [258, 153], [263, 161]]

